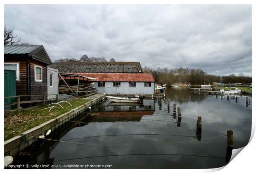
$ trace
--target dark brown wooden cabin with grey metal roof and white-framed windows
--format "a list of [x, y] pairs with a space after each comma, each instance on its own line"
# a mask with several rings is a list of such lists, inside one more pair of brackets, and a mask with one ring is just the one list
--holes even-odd
[[[17, 96], [47, 96], [47, 65], [51, 63], [43, 45], [5, 45], [5, 70], [16, 70]], [[39, 100], [42, 96], [20, 99]]]

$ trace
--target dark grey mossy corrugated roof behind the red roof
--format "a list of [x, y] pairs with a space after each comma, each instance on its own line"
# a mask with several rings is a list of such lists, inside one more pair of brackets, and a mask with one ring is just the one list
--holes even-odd
[[68, 62], [52, 63], [50, 67], [72, 73], [142, 73], [140, 62]]

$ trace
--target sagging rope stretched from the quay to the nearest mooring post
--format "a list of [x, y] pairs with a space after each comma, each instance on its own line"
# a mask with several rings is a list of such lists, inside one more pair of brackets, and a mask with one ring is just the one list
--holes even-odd
[[[50, 140], [50, 141], [55, 141], [55, 142], [62, 142], [62, 143], [72, 143], [72, 144], [81, 144], [81, 145], [94, 145], [94, 146], [107, 146], [107, 147], [152, 147], [152, 146], [160, 146], [160, 145], [171, 145], [171, 144], [183, 144], [183, 143], [191, 143], [191, 142], [196, 142], [198, 140], [190, 140], [190, 141], [184, 141], [184, 142], [176, 142], [176, 143], [162, 143], [162, 144], [152, 144], [152, 145], [104, 145], [104, 144], [91, 144], [91, 143], [75, 143], [75, 142], [69, 142], [69, 141], [63, 141], [63, 140], [54, 140], [54, 139], [46, 139], [46, 138], [39, 138], [36, 136], [32, 136], [27, 134], [27, 136], [31, 136], [33, 138], [38, 138], [38, 139], [44, 139], [44, 140]], [[219, 138], [227, 135], [221, 135], [221, 136], [215, 136], [211, 138], [205, 138], [201, 139], [202, 140], [209, 140], [209, 139], [214, 139], [214, 138]]]

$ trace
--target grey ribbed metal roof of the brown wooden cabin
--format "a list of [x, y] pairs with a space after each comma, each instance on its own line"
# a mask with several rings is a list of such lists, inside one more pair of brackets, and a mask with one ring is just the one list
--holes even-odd
[[5, 54], [29, 54], [42, 45], [5, 45]]

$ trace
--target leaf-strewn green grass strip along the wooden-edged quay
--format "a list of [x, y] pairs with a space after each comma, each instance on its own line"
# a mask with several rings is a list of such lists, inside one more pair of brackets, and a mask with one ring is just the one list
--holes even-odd
[[56, 105], [57, 108], [52, 108], [50, 112], [48, 112], [49, 109], [42, 110], [43, 108], [52, 106], [47, 106], [47, 104], [41, 104], [31, 110], [21, 110], [19, 113], [17, 111], [5, 112], [5, 140], [20, 135], [24, 131], [32, 129], [33, 127], [47, 122], [50, 119], [69, 112], [71, 109], [77, 108], [78, 106], [89, 101], [90, 100], [73, 99], [72, 101], [69, 101], [72, 106], [63, 102], [61, 105], [64, 109], [62, 109], [59, 105]]

